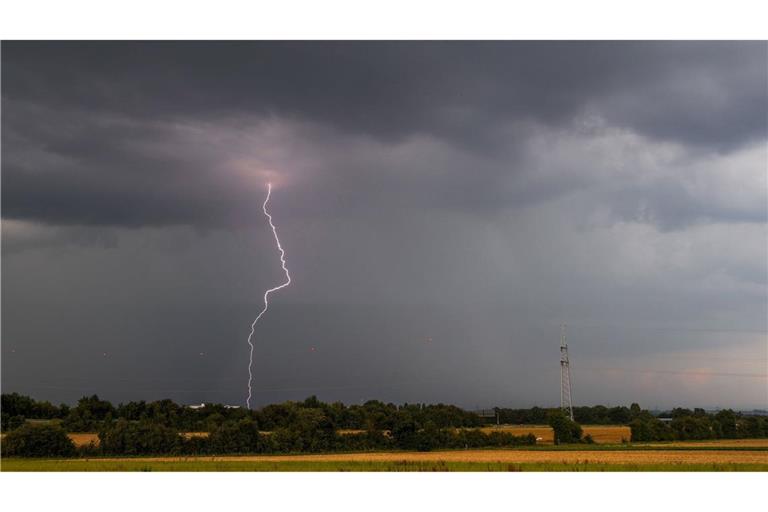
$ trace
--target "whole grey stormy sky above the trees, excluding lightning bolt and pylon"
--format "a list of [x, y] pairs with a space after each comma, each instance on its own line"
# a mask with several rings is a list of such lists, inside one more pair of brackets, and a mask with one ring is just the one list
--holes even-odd
[[2, 389], [768, 407], [765, 42], [5, 42]]

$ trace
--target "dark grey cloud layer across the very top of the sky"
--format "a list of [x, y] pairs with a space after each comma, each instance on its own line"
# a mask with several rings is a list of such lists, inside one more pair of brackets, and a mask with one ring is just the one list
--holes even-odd
[[592, 105], [698, 144], [766, 131], [762, 42], [11, 42], [3, 65], [9, 99], [151, 118], [252, 112], [461, 143]]

